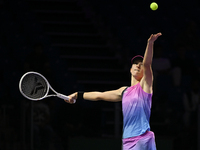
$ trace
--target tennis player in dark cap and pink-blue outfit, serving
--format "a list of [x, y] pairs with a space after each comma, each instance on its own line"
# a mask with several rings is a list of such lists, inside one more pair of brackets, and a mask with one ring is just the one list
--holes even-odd
[[150, 114], [153, 94], [152, 57], [153, 45], [161, 33], [152, 34], [147, 41], [144, 57], [132, 58], [131, 86], [106, 92], [76, 92], [69, 95], [73, 99], [91, 101], [122, 101], [123, 110], [123, 150], [156, 150], [154, 133], [150, 131]]

